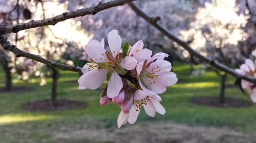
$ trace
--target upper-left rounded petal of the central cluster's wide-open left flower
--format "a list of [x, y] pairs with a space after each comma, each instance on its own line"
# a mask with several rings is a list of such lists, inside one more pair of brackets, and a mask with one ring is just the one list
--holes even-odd
[[88, 44], [85, 45], [84, 49], [85, 53], [97, 63], [105, 62], [105, 59], [108, 59], [104, 47], [98, 40], [91, 39]]

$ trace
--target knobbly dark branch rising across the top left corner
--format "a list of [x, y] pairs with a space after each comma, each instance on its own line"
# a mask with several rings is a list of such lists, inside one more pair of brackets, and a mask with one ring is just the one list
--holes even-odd
[[55, 25], [58, 22], [65, 21], [66, 19], [71, 19], [71, 18], [76, 18], [76, 17], [82, 17], [86, 16], [88, 14], [96, 14], [100, 11], [103, 11], [108, 8], [116, 7], [116, 6], [122, 6], [125, 3], [132, 2], [136, 0], [115, 0], [107, 3], [99, 3], [97, 6], [93, 6], [90, 8], [83, 8], [83, 9], [78, 9], [76, 11], [72, 12], [64, 12], [60, 14], [59, 16], [55, 16], [52, 18], [47, 18], [47, 19], [42, 19], [39, 21], [30, 21], [27, 23], [21, 23], [17, 25], [3, 25], [3, 29], [5, 33], [17, 33], [20, 30], [25, 30], [25, 29], [31, 29], [31, 28], [36, 28], [36, 27], [43, 27], [45, 25]]

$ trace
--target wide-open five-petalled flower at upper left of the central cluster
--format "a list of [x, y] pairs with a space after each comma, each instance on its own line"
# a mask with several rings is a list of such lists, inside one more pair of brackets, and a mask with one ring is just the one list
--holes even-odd
[[102, 39], [90, 40], [85, 45], [85, 52], [91, 58], [90, 63], [84, 65], [82, 72], [84, 73], [78, 80], [78, 89], [97, 89], [102, 85], [103, 81], [110, 72], [111, 76], [108, 83], [107, 95], [109, 98], [118, 96], [123, 88], [121, 77], [118, 75], [118, 69], [132, 70], [136, 67], [137, 61], [133, 57], [124, 57], [122, 59], [122, 39], [118, 34], [118, 30], [112, 30], [108, 34], [108, 44], [111, 53], [104, 49], [105, 43]]

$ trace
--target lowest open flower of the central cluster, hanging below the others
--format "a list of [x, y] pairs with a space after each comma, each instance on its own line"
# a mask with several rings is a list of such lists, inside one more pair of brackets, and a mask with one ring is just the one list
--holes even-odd
[[127, 113], [123, 110], [120, 111], [117, 120], [118, 127], [126, 124], [127, 121], [129, 122], [129, 124], [134, 124], [134, 122], [136, 122], [138, 118], [139, 111], [141, 111], [142, 107], [151, 117], [154, 117], [156, 115], [156, 112], [162, 115], [166, 113], [165, 108], [163, 108], [163, 106], [160, 104], [160, 99], [145, 93], [143, 90], [136, 90], [133, 98], [134, 100], [137, 100], [137, 102], [131, 106], [129, 112]]

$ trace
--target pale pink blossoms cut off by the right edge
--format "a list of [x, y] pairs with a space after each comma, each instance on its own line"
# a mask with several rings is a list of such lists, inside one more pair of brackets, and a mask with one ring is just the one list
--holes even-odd
[[[235, 69], [236, 72], [242, 75], [249, 75], [256, 78], [256, 50], [253, 50], [252, 55], [254, 57], [254, 61], [252, 59], [246, 59], [245, 63], [240, 66], [239, 69]], [[241, 88], [247, 90], [250, 94], [250, 98], [256, 103], [256, 85], [247, 80], [241, 80]]]

